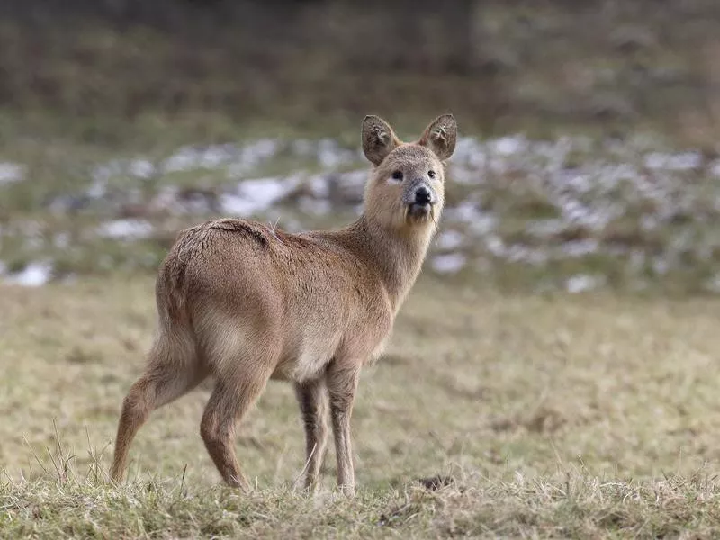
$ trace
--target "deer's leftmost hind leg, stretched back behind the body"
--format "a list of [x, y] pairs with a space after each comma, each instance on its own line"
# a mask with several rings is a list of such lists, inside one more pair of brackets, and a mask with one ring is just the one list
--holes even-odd
[[189, 337], [164, 333], [157, 338], [145, 374], [132, 384], [122, 403], [110, 473], [113, 481], [122, 481], [132, 439], [150, 413], [190, 392], [206, 376]]

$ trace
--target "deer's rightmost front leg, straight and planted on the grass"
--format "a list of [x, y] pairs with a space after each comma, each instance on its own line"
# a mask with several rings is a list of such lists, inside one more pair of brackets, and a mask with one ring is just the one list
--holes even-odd
[[347, 497], [355, 496], [350, 417], [359, 377], [359, 365], [338, 364], [336, 359], [328, 368], [330, 417], [335, 437], [335, 454], [338, 458], [338, 487]]

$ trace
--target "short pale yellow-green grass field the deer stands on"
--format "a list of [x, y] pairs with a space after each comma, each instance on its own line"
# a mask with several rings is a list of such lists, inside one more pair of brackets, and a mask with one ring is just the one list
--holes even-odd
[[[106, 470], [154, 328], [152, 279], [3, 287], [0, 536], [665, 537], [720, 533], [718, 306], [500, 295], [423, 279], [354, 416], [358, 498], [295, 491], [302, 428], [271, 383], [238, 433], [257, 490], [220, 487], [207, 388]], [[440, 489], [418, 479], [452, 478]], [[426, 482], [428, 483], [428, 482]]]

